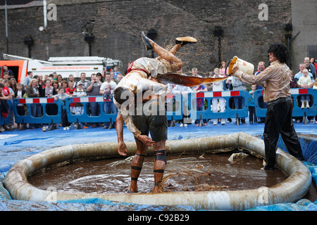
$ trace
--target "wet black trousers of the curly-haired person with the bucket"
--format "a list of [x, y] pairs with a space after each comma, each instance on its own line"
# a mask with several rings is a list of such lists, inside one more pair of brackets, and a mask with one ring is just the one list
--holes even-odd
[[274, 169], [279, 135], [288, 152], [298, 160], [304, 160], [302, 147], [295, 132], [293, 122], [293, 101], [291, 97], [278, 98], [268, 103], [266, 124], [264, 127], [264, 145], [266, 151], [265, 169]]

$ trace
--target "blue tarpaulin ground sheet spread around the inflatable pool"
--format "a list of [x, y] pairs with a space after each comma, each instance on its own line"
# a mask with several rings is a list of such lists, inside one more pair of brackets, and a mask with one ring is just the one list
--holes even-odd
[[[297, 133], [300, 134], [317, 134], [316, 124], [294, 124]], [[254, 136], [263, 134], [264, 124], [240, 124], [226, 123], [224, 126], [213, 126], [209, 123], [208, 126], [196, 127], [194, 124], [189, 124], [188, 127], [168, 128], [169, 140], [194, 139], [206, 136], [219, 136], [223, 134], [232, 134], [244, 132]], [[23, 211], [63, 211], [63, 210], [166, 210], [166, 207], [155, 205], [133, 205], [128, 203], [113, 203], [100, 199], [73, 200], [58, 203], [32, 203], [21, 200], [12, 200], [8, 191], [3, 186], [3, 180], [8, 170], [19, 160], [40, 153], [44, 150], [65, 146], [66, 144], [85, 144], [85, 143], [100, 143], [113, 142], [116, 140], [116, 129], [102, 129], [101, 127], [78, 129], [73, 126], [70, 130], [63, 131], [59, 127], [54, 131], [43, 132], [42, 129], [24, 130], [24, 131], [5, 131], [0, 134], [0, 210], [23, 210]], [[134, 141], [133, 135], [124, 129], [124, 140]], [[300, 137], [302, 143], [304, 157], [307, 160], [305, 165], [309, 167], [313, 180], [317, 180], [316, 163], [316, 139], [306, 141]], [[279, 142], [279, 147], [284, 148], [282, 141]], [[285, 150], [285, 149], [283, 149]], [[280, 210], [316, 210], [316, 202], [307, 202], [308, 200], [299, 200], [297, 203], [285, 203], [272, 206], [256, 207], [250, 210], [259, 211], [280, 211]], [[191, 207], [174, 207], [167, 208], [168, 210], [193, 210]]]

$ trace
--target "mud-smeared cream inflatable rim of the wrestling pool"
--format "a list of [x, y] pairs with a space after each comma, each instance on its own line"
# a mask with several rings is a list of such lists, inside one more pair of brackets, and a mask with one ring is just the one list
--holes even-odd
[[[126, 145], [128, 154], [133, 155], [136, 151], [135, 142], [129, 141]], [[237, 147], [245, 148], [265, 158], [263, 140], [244, 133], [166, 142], [167, 153], [194, 151], [218, 153], [220, 150]], [[148, 155], [151, 152], [152, 150], [149, 149]], [[192, 206], [195, 210], [247, 210], [261, 205], [295, 202], [302, 198], [311, 186], [309, 169], [280, 148], [277, 150], [276, 165], [287, 174], [288, 178], [280, 184], [264, 189], [174, 193], [58, 193], [40, 190], [27, 181], [27, 177], [37, 170], [68, 160], [118, 156], [118, 143], [92, 143], [52, 148], [13, 165], [6, 175], [4, 187], [13, 199], [34, 202], [100, 198], [144, 205]]]

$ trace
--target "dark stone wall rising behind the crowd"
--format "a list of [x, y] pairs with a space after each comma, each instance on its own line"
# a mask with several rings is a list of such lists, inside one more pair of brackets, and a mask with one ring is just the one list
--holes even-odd
[[[92, 31], [92, 56], [119, 59], [125, 65], [143, 56], [151, 56], [142, 43], [142, 30], [154, 29], [154, 39], [170, 48], [175, 37], [194, 36], [198, 43], [185, 46], [179, 56], [184, 71], [197, 67], [201, 75], [218, 67], [218, 39], [215, 26], [223, 28], [221, 60], [233, 56], [254, 63], [268, 64], [266, 50], [275, 41], [286, 43], [284, 26], [291, 23], [291, 0], [283, 1], [48, 1], [57, 5], [57, 20], [43, 26], [43, 8], [11, 8], [8, 10], [9, 53], [27, 57], [23, 39], [32, 35], [32, 57], [46, 60], [50, 56], [88, 56], [89, 48], [83, 32]], [[74, 2], [74, 1], [73, 1]], [[268, 6], [268, 20], [259, 20], [259, 5]], [[5, 15], [0, 13], [0, 53], [6, 53]]]

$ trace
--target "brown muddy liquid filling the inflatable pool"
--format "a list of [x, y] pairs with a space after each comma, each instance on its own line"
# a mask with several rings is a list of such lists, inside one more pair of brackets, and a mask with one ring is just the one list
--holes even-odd
[[[233, 162], [232, 153], [204, 155], [167, 155], [163, 191], [242, 190], [270, 187], [287, 179], [279, 169], [265, 171], [263, 160], [244, 155]], [[130, 193], [130, 159], [111, 158], [73, 162], [42, 169], [30, 175], [28, 181], [42, 190], [64, 193]], [[138, 179], [139, 193], [154, 188], [154, 157], [144, 158]]]

